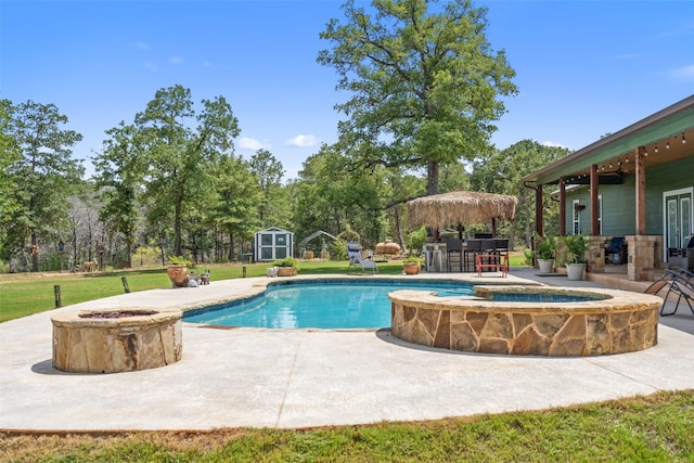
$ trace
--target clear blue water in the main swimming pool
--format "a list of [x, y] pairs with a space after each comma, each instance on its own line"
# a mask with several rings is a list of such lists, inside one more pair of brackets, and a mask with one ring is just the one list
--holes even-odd
[[387, 295], [398, 290], [473, 294], [472, 284], [455, 282], [293, 282], [268, 286], [265, 294], [249, 299], [185, 312], [183, 321], [268, 329], [378, 329], [390, 325]]

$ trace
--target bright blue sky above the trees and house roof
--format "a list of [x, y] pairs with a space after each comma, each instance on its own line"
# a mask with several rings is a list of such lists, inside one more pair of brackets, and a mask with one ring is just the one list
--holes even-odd
[[[295, 178], [344, 117], [337, 75], [316, 62], [340, 4], [1, 0], [0, 98], [55, 104], [85, 137], [75, 157], [88, 159], [105, 130], [180, 83], [195, 102], [223, 95], [241, 126], [236, 153], [266, 149]], [[499, 149], [531, 139], [578, 150], [694, 93], [694, 1], [475, 4], [517, 73]]]

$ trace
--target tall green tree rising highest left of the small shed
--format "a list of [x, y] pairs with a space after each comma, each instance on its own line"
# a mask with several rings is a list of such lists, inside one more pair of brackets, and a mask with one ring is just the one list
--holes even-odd
[[[220, 156], [233, 153], [233, 139], [240, 133], [223, 97], [202, 104], [196, 114], [190, 90], [177, 85], [158, 90], [134, 120], [150, 162], [145, 183], [150, 222], [159, 229], [170, 223], [175, 255], [183, 254], [183, 219], [190, 216], [185, 208], [210, 194], [210, 171]], [[197, 127], [188, 126], [192, 119]]]

